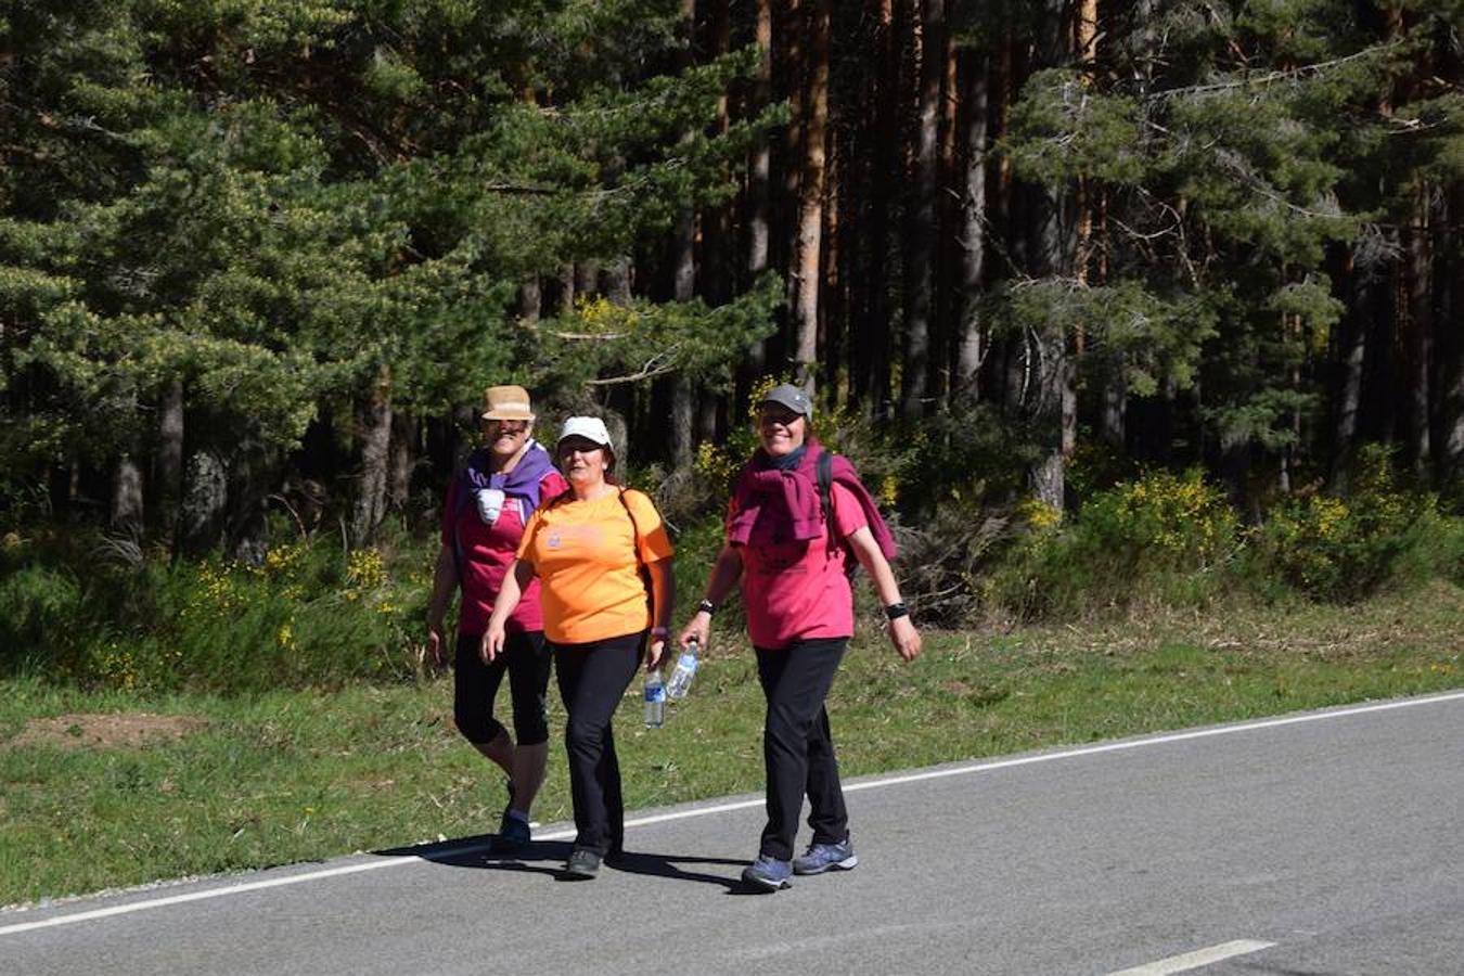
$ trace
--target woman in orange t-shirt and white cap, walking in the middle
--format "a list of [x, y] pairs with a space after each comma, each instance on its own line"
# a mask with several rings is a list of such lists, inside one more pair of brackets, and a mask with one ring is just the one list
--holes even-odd
[[593, 878], [602, 859], [624, 850], [625, 803], [610, 720], [643, 657], [647, 670], [660, 663], [675, 600], [672, 547], [651, 500], [615, 481], [615, 448], [603, 420], [569, 417], [555, 457], [569, 490], [530, 517], [482, 654], [492, 661], [502, 653], [505, 623], [537, 578], [568, 713], [564, 737], [577, 836], [565, 875]]

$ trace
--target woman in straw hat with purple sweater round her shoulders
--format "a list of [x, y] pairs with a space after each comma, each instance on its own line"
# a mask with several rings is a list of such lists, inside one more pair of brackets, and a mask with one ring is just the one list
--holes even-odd
[[[549, 757], [545, 694], [550, 658], [537, 582], [523, 594], [505, 625], [504, 653], [485, 664], [479, 650], [529, 517], [540, 502], [555, 498], [568, 484], [549, 452], [530, 436], [534, 414], [529, 392], [521, 386], [490, 386], [486, 401], [486, 446], [468, 455], [463, 471], [452, 478], [442, 509], [442, 549], [432, 579], [427, 650], [433, 660], [442, 660], [442, 617], [452, 591], [461, 590], [452, 717], [463, 736], [508, 774], [509, 802], [495, 847], [511, 852], [529, 843], [529, 811], [543, 784]], [[505, 672], [517, 745], [493, 717], [493, 698]]]

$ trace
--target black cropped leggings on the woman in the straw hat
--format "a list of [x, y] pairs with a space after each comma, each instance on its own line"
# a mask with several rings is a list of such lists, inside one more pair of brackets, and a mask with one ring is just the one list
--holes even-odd
[[504, 653], [485, 664], [477, 656], [482, 634], [458, 634], [452, 664], [452, 720], [473, 745], [486, 746], [507, 732], [493, 717], [493, 699], [508, 672], [508, 691], [514, 699], [514, 735], [518, 745], [533, 746], [549, 740], [545, 695], [553, 658], [543, 631], [520, 631], [504, 641]]

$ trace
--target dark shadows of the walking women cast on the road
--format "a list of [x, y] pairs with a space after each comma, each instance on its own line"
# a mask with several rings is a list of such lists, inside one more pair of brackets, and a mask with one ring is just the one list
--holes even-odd
[[[564, 862], [569, 857], [571, 844], [564, 840], [536, 840], [517, 853], [501, 855], [492, 850], [493, 834], [479, 834], [476, 837], [461, 837], [436, 844], [414, 844], [410, 847], [389, 847], [372, 852], [382, 857], [422, 857], [438, 865], [451, 868], [474, 868], [480, 871], [517, 871], [523, 874], [539, 874], [555, 881], [564, 881]], [[703, 871], [688, 871], [684, 865], [714, 865], [733, 868], [731, 875], [709, 874]], [[622, 855], [606, 859], [605, 868], [624, 874], [650, 875], [653, 878], [671, 878], [673, 881], [697, 881], [701, 884], [722, 885], [728, 894], [760, 894], [760, 888], [747, 885], [741, 878], [745, 860], [731, 860], [728, 857], [694, 857], [684, 855], [662, 855], [643, 850], [627, 850]]]

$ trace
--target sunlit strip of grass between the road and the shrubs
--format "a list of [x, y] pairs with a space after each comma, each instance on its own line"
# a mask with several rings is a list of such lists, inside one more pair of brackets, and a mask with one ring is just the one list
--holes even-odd
[[[830, 714], [858, 776], [1457, 688], [1461, 634], [1464, 590], [1445, 582], [1351, 607], [930, 634], [912, 666], [864, 631]], [[151, 713], [179, 735], [88, 745], [95, 713]], [[37, 736], [47, 720], [60, 733]], [[631, 698], [618, 729], [632, 808], [761, 789], [742, 641], [665, 729], [641, 729]], [[482, 834], [504, 802], [452, 729], [448, 679], [230, 698], [6, 680], [0, 787], [0, 904]], [[558, 746], [536, 817], [569, 818]]]

